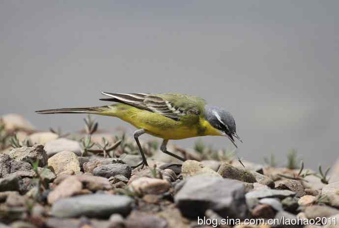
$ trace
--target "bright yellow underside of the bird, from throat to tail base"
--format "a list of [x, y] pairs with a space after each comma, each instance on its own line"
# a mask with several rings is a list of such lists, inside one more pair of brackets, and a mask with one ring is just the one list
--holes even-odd
[[220, 130], [212, 127], [201, 116], [186, 116], [182, 117], [180, 121], [175, 121], [161, 114], [141, 110], [126, 104], [114, 105], [114, 109], [104, 115], [118, 117], [134, 127], [144, 128], [148, 134], [163, 139], [222, 135]]

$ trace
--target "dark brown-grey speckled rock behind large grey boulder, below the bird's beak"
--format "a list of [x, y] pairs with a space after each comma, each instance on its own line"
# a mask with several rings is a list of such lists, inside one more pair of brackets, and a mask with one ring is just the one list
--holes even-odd
[[239, 169], [226, 163], [220, 166], [218, 173], [224, 178], [241, 180], [248, 183], [256, 182], [255, 177], [250, 171]]

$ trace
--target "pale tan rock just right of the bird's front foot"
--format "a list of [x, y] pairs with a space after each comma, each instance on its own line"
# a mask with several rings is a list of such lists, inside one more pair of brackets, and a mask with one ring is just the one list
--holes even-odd
[[220, 174], [206, 167], [202, 163], [194, 160], [187, 160], [182, 163], [181, 174], [183, 177], [192, 177], [196, 175], [207, 175], [211, 177], [221, 177]]

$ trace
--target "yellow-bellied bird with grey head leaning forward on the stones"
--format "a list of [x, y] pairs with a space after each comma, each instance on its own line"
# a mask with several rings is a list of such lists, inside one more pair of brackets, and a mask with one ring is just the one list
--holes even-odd
[[198, 136], [226, 136], [237, 148], [235, 120], [230, 112], [210, 106], [204, 99], [179, 93], [107, 93], [101, 101], [115, 103], [96, 107], [58, 108], [35, 111], [39, 114], [87, 113], [117, 117], [137, 128], [133, 133], [142, 160], [132, 168], [148, 166], [139, 136], [144, 133], [163, 139], [160, 150], [181, 161], [186, 159], [167, 150], [169, 140]]

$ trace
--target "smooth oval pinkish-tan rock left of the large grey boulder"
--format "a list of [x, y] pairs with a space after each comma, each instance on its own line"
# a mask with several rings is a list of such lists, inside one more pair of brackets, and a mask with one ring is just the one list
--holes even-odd
[[136, 179], [129, 184], [131, 191], [137, 194], [162, 194], [169, 190], [170, 183], [164, 179], [141, 177]]

